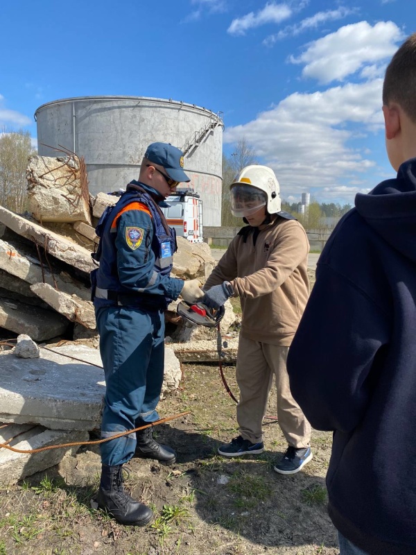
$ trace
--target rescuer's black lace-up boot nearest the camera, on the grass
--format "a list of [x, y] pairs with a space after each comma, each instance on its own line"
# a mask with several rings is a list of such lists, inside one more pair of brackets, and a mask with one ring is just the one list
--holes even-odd
[[121, 524], [145, 526], [152, 520], [153, 512], [125, 493], [121, 468], [105, 464], [101, 466], [101, 483], [96, 498], [98, 506]]

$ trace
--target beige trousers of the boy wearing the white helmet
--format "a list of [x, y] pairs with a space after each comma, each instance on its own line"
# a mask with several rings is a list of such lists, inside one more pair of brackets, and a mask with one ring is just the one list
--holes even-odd
[[277, 387], [277, 419], [289, 445], [306, 447], [311, 425], [293, 399], [286, 370], [289, 348], [252, 341], [240, 334], [236, 379], [240, 388], [237, 422], [244, 439], [263, 441], [261, 425], [266, 414], [273, 375]]

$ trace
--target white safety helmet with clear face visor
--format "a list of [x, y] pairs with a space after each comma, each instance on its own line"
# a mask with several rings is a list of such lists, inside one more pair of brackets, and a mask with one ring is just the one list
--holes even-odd
[[275, 172], [267, 166], [246, 166], [232, 182], [230, 189], [234, 216], [250, 216], [264, 205], [269, 214], [281, 210], [279, 182]]

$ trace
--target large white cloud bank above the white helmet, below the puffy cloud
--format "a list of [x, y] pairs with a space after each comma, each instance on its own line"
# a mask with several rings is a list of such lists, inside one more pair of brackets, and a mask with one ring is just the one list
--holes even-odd
[[[338, 194], [350, 202], [356, 192], [348, 187], [351, 180], [363, 180], [363, 190], [375, 185], [367, 183], [365, 174], [376, 164], [354, 148], [354, 139], [358, 130], [383, 128], [381, 87], [382, 80], [376, 79], [291, 94], [257, 119], [227, 128], [224, 142], [245, 137], [263, 163], [275, 170], [284, 197], [315, 188], [320, 191], [314, 193], [317, 198]], [[347, 193], [339, 187], [347, 187]]]

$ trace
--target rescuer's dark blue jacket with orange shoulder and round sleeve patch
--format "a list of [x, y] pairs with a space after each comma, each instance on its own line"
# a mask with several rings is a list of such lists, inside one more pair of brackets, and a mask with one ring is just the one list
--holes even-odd
[[164, 310], [182, 291], [171, 278], [175, 234], [153, 198], [157, 191], [132, 181], [98, 222], [100, 239], [92, 272], [95, 307], [131, 306]]

